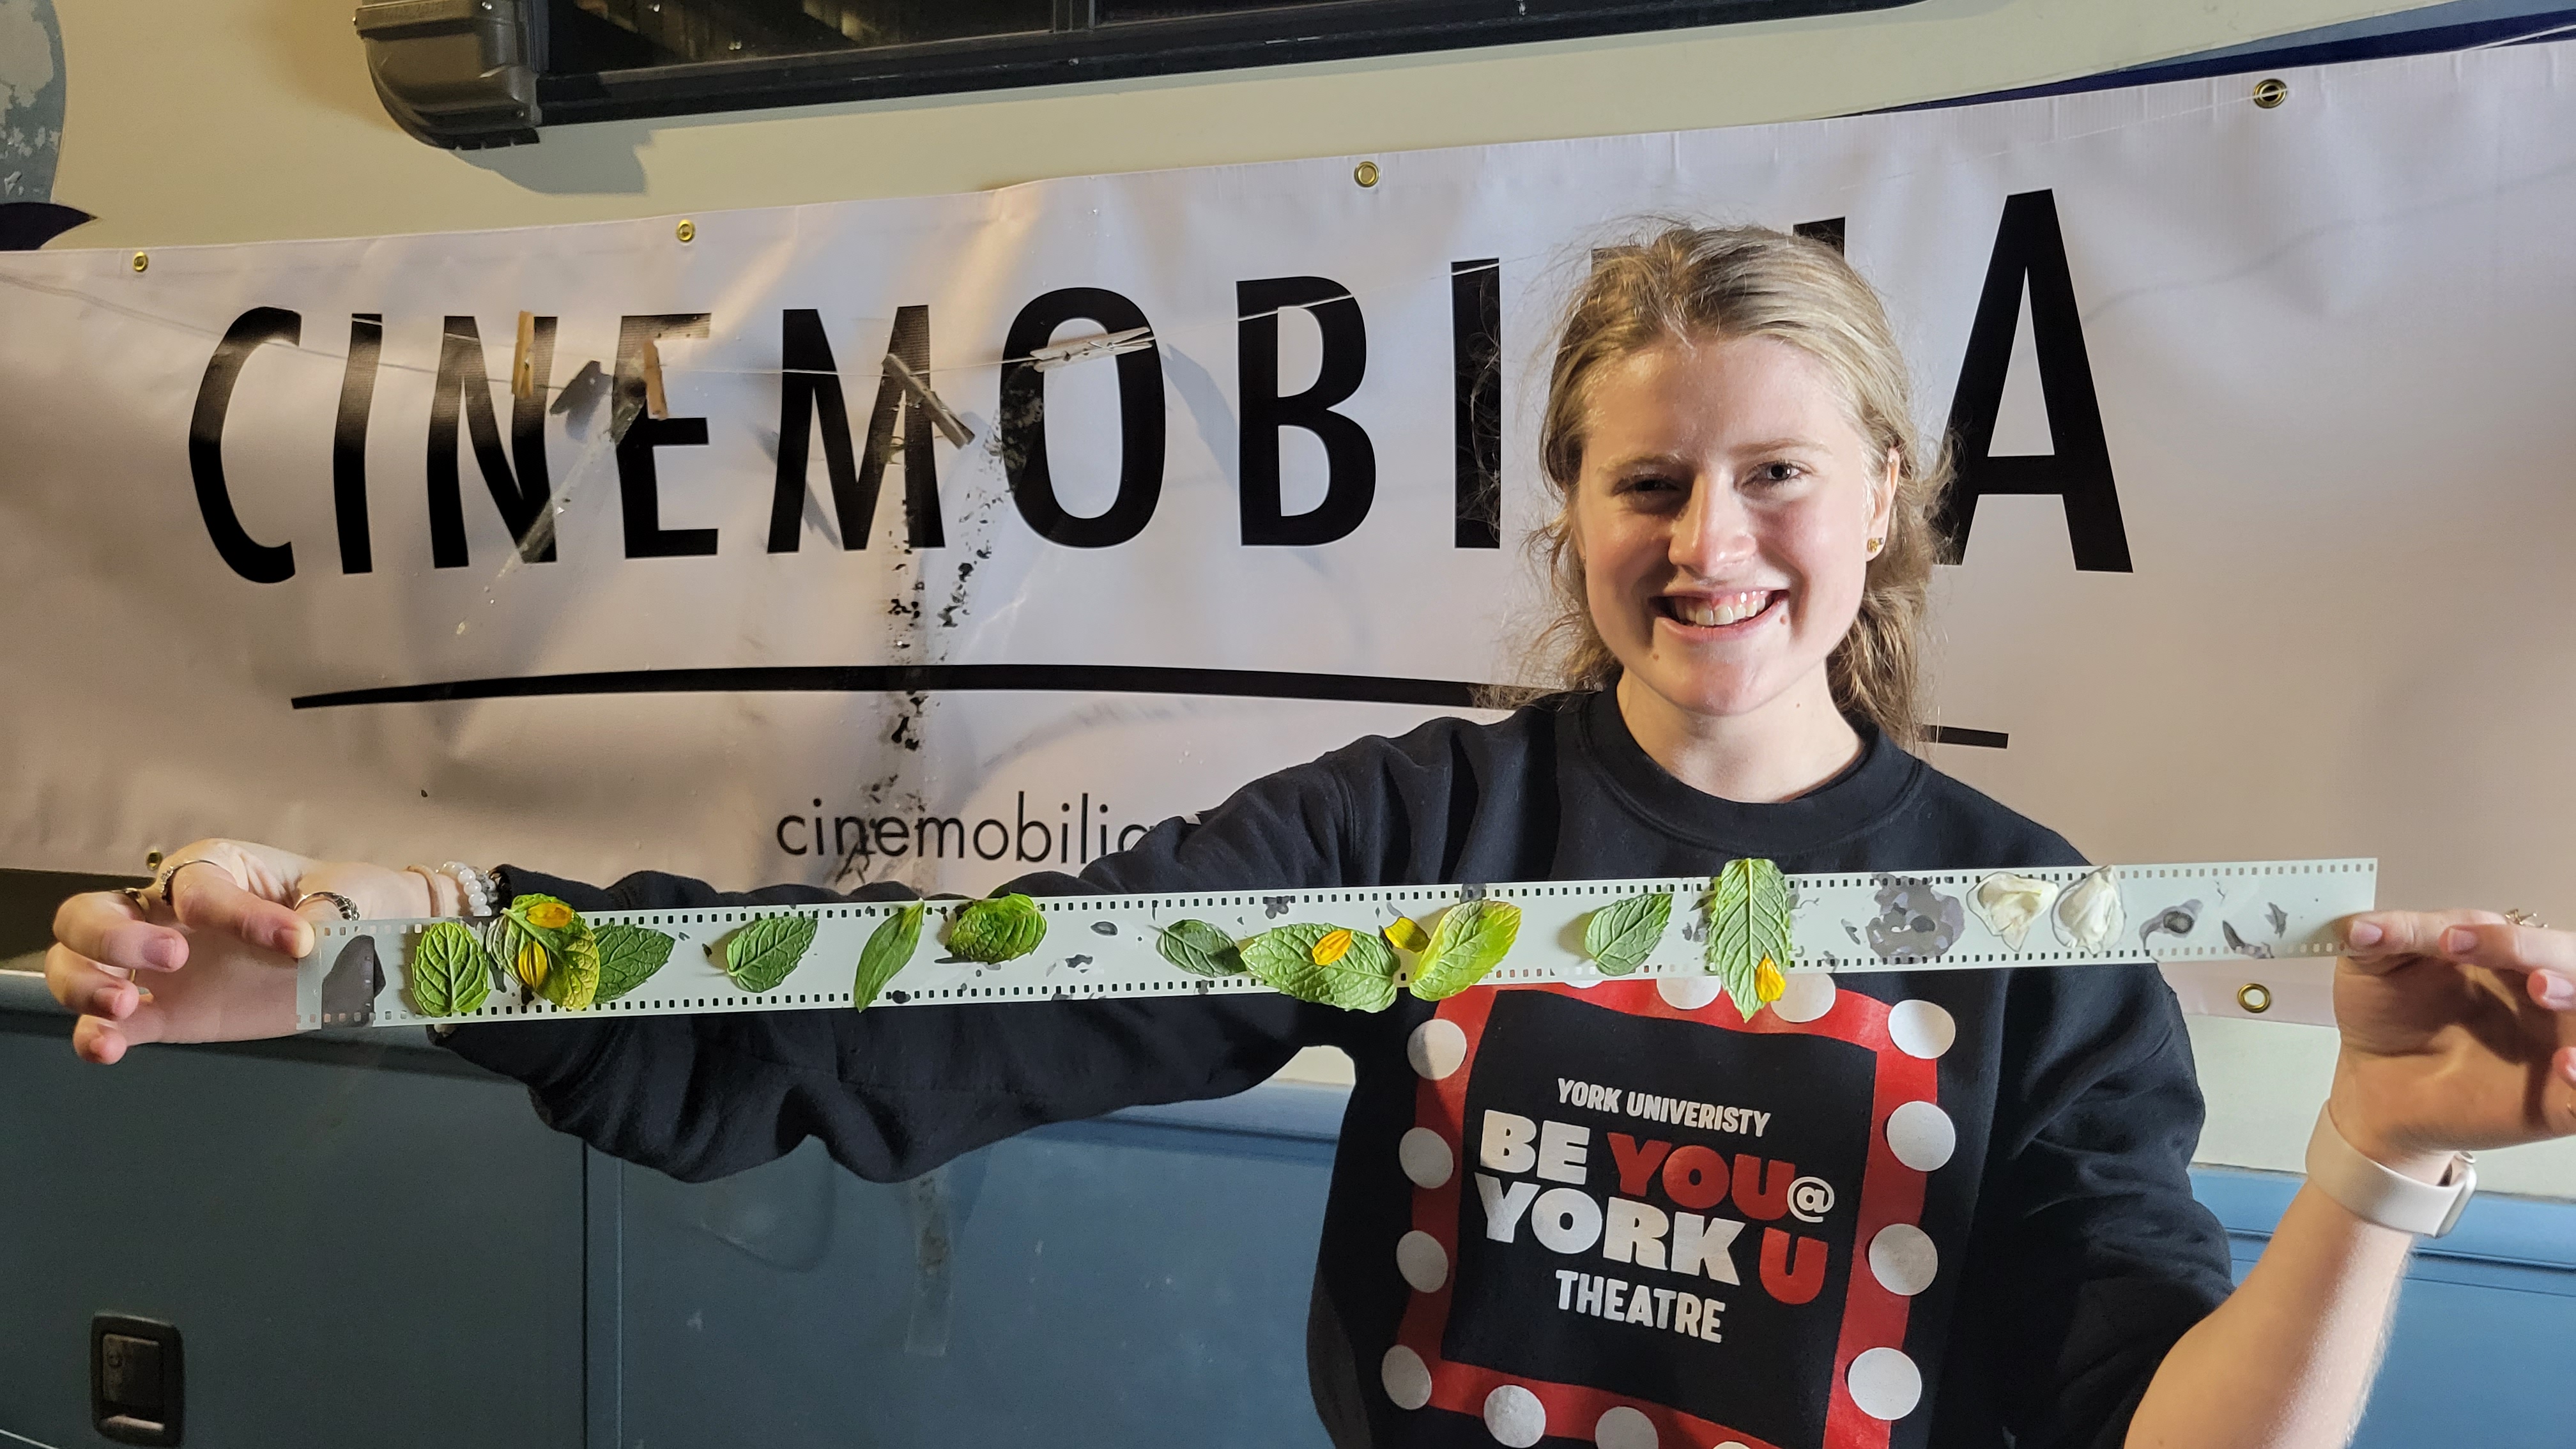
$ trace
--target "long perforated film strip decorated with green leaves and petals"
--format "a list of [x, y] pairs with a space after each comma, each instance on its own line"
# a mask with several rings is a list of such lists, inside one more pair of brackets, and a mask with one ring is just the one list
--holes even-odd
[[[1798, 874], [1785, 877], [1790, 959], [1785, 972], [1999, 969], [2161, 962], [2169, 975], [2200, 962], [2275, 962], [2336, 954], [2334, 920], [2375, 902], [2378, 861], [2233, 861], [2182, 866], [2030, 866], [1927, 874]], [[1164, 954], [1177, 920], [1203, 920], [1226, 938], [1252, 938], [1278, 926], [1329, 926], [1391, 944], [1396, 982], [1419, 964], [1419, 946], [1443, 913], [1468, 900], [1520, 908], [1510, 951], [1481, 975], [1484, 985], [1597, 982], [1602, 964], [1587, 951], [1597, 910], [1638, 897], [1669, 897], [1662, 936], [1643, 949], [1633, 975], [1708, 977], [1713, 928], [1710, 877], [1525, 884], [1417, 884], [1285, 892], [1069, 895], [1033, 902], [1043, 933], [1028, 954], [1005, 962], [963, 959], [956, 918], [971, 902], [927, 902], [920, 938], [871, 1006], [956, 1006], [1213, 995], [1270, 990], [1252, 975], [1193, 975]], [[616, 910], [585, 923], [605, 933], [629, 926], [626, 941], [667, 938], [667, 959], [611, 1000], [577, 1011], [523, 990], [502, 954], [477, 951], [489, 990], [471, 1011], [425, 1011], [440, 1000], [420, 977], [420, 946], [433, 920], [345, 920], [317, 928], [317, 949], [296, 980], [296, 1029], [417, 1026], [440, 1021], [526, 1021], [567, 1013], [672, 1016], [708, 1011], [848, 1011], [860, 990], [858, 964], [868, 941], [909, 902], [773, 905], [716, 910]], [[742, 975], [726, 969], [729, 941], [760, 920], [806, 918], [811, 938], [793, 964]], [[469, 923], [474, 926], [474, 923]], [[801, 923], [765, 926], [770, 936], [804, 938]], [[644, 936], [649, 933], [649, 936]], [[479, 931], [477, 941], [489, 936]], [[453, 936], [451, 936], [453, 941]], [[659, 946], [654, 946], [659, 949]], [[1347, 949], [1347, 946], [1345, 946]], [[2324, 964], [2324, 962], [2316, 962]], [[2290, 969], [2285, 980], [2316, 977]], [[762, 990], [752, 990], [760, 985]], [[2177, 980], [2177, 985], [2182, 985]], [[1710, 987], [1713, 990], [1713, 987]], [[2244, 993], [2267, 990], [2264, 1003]], [[2239, 990], [2241, 1011], [2264, 1013], [2272, 987]], [[2285, 990], [2318, 990], [2313, 982]], [[464, 993], [456, 993], [464, 995]], [[2192, 990], [2184, 990], [2192, 1008]], [[2316, 1018], [2308, 1011], [2285, 1018]]]

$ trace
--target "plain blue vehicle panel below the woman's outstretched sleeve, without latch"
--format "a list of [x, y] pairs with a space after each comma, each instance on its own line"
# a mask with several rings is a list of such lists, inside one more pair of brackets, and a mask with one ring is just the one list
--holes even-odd
[[706, 1186], [626, 1168], [616, 1441], [1321, 1446], [1303, 1330], [1342, 1093], [1298, 1093], [896, 1186], [811, 1142]]

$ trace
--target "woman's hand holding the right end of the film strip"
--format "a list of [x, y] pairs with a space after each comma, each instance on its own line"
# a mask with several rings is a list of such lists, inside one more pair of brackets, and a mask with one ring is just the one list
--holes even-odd
[[2452, 1152], [2576, 1134], [2576, 933], [2494, 910], [2344, 920], [2334, 1127], [2437, 1178]]

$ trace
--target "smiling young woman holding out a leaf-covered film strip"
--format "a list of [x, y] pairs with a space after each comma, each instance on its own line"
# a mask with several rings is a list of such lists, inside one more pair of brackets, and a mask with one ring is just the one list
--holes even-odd
[[[1904, 748], [1942, 477], [1878, 299], [1834, 250], [1667, 229], [1600, 253], [1540, 454], [1566, 694], [1360, 740], [1079, 879], [1015, 887], [2079, 861]], [[206, 841], [139, 902], [70, 900], [49, 980], [98, 1062], [276, 1034], [278, 964], [312, 946], [289, 902], [459, 913], [461, 882], [482, 887]], [[513, 866], [497, 887], [585, 910], [829, 900]], [[2486, 913], [2347, 931], [2342, 1140], [2434, 1183], [2455, 1150], [2576, 1129], [2576, 936]], [[804, 1137], [899, 1178], [1342, 1047], [1358, 1085], [1309, 1343], [1345, 1446], [2344, 1441], [2409, 1235], [2311, 1186], [2228, 1292], [2184, 1173], [2190, 1047], [2154, 967], [1798, 977], [1752, 1021], [1698, 985], [1479, 987], [1376, 1016], [1236, 995], [574, 1018], [446, 1042], [526, 1080], [554, 1127], [683, 1178]], [[1904, 1124], [1896, 1078], [1922, 1083]], [[1824, 1191], [1790, 1201], [1803, 1183]]]

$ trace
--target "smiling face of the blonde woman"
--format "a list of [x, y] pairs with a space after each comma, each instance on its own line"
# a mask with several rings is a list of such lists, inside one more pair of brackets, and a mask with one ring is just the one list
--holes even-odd
[[1700, 717], [1821, 691], [1891, 498], [1891, 459], [1790, 343], [1659, 343], [1602, 366], [1574, 539], [1625, 688]]

